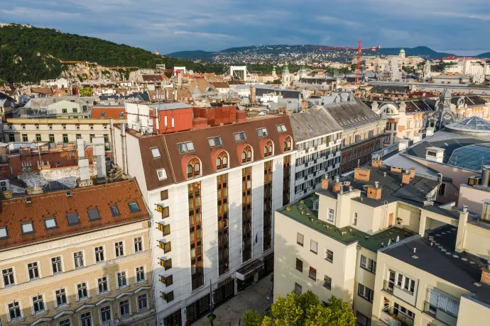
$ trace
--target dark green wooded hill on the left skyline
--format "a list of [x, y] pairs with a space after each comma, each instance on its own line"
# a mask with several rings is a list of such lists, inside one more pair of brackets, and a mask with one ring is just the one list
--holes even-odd
[[156, 64], [185, 66], [195, 72], [224, 72], [220, 64], [202, 64], [153, 53], [99, 38], [60, 33], [49, 28], [10, 25], [0, 28], [0, 81], [26, 82], [55, 79], [65, 61], [97, 62], [104, 67]]

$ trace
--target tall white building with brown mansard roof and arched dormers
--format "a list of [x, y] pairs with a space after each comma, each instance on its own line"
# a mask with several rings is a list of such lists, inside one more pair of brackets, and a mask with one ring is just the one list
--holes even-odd
[[158, 325], [192, 324], [273, 270], [273, 210], [293, 197], [293, 131], [288, 116], [241, 113], [221, 125], [189, 115], [192, 130], [148, 136], [123, 125], [114, 137], [116, 164], [151, 210]]

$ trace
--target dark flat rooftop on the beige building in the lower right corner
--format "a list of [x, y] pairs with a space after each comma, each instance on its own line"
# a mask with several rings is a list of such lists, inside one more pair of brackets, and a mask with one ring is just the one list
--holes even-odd
[[[481, 267], [486, 262], [472, 254], [454, 252], [457, 228], [445, 225], [428, 237], [415, 236], [407, 242], [383, 249], [383, 253], [395, 257], [450, 283], [474, 293], [474, 298], [490, 303], [490, 286], [480, 283]], [[430, 242], [434, 245], [430, 247]], [[413, 257], [413, 249], [416, 249]]]

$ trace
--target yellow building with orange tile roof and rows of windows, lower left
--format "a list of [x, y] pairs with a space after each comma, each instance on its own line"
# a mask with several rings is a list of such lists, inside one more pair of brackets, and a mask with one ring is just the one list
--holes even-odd
[[155, 325], [135, 180], [0, 202], [1, 325]]

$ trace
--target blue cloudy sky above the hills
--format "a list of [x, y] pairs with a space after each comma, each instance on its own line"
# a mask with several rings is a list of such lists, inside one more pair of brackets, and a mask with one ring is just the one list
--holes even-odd
[[316, 44], [490, 51], [489, 0], [0, 0], [1, 23], [147, 50]]

